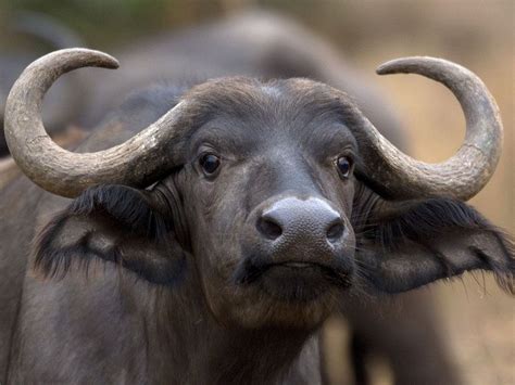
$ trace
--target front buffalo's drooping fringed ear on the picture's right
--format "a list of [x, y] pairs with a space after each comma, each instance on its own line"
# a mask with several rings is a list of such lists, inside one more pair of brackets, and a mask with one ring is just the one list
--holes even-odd
[[515, 294], [514, 244], [473, 207], [448, 198], [376, 206], [356, 232], [356, 262], [373, 288], [399, 293], [489, 270]]

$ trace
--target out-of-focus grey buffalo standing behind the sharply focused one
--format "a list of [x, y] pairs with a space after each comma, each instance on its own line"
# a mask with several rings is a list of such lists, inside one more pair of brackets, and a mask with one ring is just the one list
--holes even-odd
[[[163, 79], [187, 85], [192, 79], [199, 82], [227, 75], [264, 79], [307, 77], [346, 90], [392, 144], [403, 151], [409, 149], [404, 127], [374, 84], [323, 38], [277, 14], [238, 13], [210, 24], [165, 31], [117, 49], [116, 57], [123, 65], [114, 74], [90, 69], [91, 74], [85, 76], [92, 98], [91, 105], [84, 106], [80, 114], [84, 126], [97, 126], [124, 97]], [[146, 113], [145, 105], [141, 104], [141, 114]], [[422, 378], [426, 384], [460, 382], [436, 322], [438, 311], [431, 295], [428, 291], [416, 291], [398, 297], [395, 304], [377, 300], [373, 306], [382, 315], [380, 318], [369, 315], [369, 301], [341, 308], [350, 322], [353, 346], [384, 351], [397, 384], [419, 383]], [[406, 316], [399, 316], [398, 308]], [[416, 343], [413, 335], [417, 336]], [[357, 356], [366, 354], [360, 351]], [[367, 369], [367, 360], [354, 361], [360, 362], [355, 373]]]

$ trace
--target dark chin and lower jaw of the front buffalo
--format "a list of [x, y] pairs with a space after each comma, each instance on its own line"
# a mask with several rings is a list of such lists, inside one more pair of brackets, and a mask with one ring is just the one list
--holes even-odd
[[344, 288], [316, 267], [300, 269], [273, 267], [256, 282], [208, 298], [211, 310], [227, 328], [314, 330], [337, 309]]

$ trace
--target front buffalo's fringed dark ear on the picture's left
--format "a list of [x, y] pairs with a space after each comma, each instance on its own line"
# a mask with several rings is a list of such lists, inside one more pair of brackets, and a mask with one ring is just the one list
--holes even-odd
[[156, 192], [124, 185], [88, 189], [40, 232], [35, 270], [62, 278], [74, 264], [87, 269], [103, 260], [149, 282], [171, 284], [185, 267], [173, 217]]

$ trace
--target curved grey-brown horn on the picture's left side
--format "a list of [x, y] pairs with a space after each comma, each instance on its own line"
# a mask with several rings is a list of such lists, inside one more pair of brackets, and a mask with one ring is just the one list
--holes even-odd
[[99, 51], [65, 49], [30, 64], [14, 84], [5, 106], [5, 139], [11, 155], [25, 175], [42, 189], [74, 197], [101, 183], [145, 187], [172, 167], [169, 143], [180, 137], [178, 103], [158, 121], [114, 147], [96, 153], [73, 153], [56, 145], [41, 121], [41, 103], [50, 86], [63, 74], [86, 66], [117, 68], [117, 61]]

